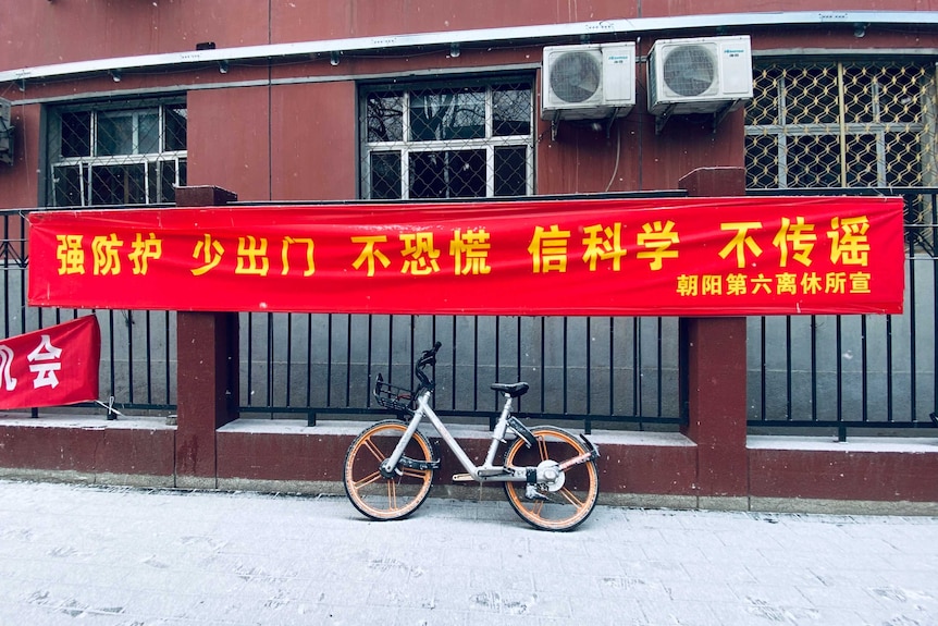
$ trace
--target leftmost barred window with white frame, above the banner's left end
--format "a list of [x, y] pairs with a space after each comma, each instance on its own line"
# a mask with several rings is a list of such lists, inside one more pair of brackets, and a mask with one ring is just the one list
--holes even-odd
[[52, 206], [175, 201], [186, 184], [186, 107], [124, 101], [63, 107], [49, 123]]

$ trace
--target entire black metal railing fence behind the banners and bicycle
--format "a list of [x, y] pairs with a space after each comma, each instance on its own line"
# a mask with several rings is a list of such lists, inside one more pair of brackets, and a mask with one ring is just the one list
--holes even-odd
[[[930, 426], [938, 397], [938, 189], [891, 193], [905, 197], [910, 216], [905, 312], [750, 318], [751, 427], [823, 427], [844, 435], [854, 427]], [[28, 307], [25, 214], [0, 212], [5, 336], [94, 312], [102, 331], [102, 400], [113, 396], [123, 412], [173, 413], [175, 314]], [[587, 430], [680, 424], [675, 318], [242, 314], [239, 324], [239, 404], [255, 417], [312, 425], [381, 413], [371, 377], [411, 384], [415, 357], [441, 341], [434, 375], [443, 415], [491, 421], [497, 397], [489, 384], [527, 380], [522, 414], [577, 420]]]

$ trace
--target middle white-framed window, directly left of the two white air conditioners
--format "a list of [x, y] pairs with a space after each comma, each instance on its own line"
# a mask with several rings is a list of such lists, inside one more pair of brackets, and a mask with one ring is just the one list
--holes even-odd
[[361, 111], [367, 199], [534, 193], [530, 78], [370, 86]]

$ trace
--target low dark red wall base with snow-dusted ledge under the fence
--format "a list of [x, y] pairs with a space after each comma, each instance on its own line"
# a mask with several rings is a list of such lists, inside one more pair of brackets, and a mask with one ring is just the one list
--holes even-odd
[[[342, 465], [349, 442], [368, 422], [238, 419], [212, 434], [213, 476], [174, 466], [176, 429], [159, 418], [115, 421], [81, 416], [0, 420], [0, 478], [82, 484], [344, 495]], [[432, 428], [424, 433], [439, 443]], [[453, 434], [482, 458], [484, 427]], [[938, 515], [938, 439], [847, 443], [805, 438], [749, 438], [743, 453], [748, 493], [708, 493], [698, 479], [700, 446], [680, 433], [603, 431], [600, 502], [643, 508], [779, 513]], [[431, 495], [502, 500], [502, 486], [452, 482], [461, 466], [440, 445], [443, 466]]]

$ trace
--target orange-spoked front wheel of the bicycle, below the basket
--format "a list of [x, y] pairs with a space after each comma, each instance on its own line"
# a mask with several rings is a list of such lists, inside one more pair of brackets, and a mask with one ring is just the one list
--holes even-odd
[[[430, 493], [433, 469], [403, 467], [400, 464], [392, 477], [381, 474], [381, 463], [391, 456], [394, 447], [407, 430], [407, 425], [396, 420], [379, 421], [359, 434], [345, 455], [343, 482], [351, 504], [372, 519], [400, 519], [423, 504]], [[433, 449], [419, 431], [414, 433], [404, 456], [430, 463]]]

